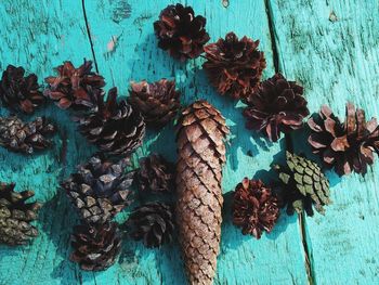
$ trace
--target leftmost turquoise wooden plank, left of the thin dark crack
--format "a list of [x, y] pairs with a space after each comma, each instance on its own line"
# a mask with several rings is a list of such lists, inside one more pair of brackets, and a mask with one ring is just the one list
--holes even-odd
[[[1, 72], [8, 64], [23, 65], [42, 83], [63, 61], [81, 64], [83, 57], [92, 57], [80, 1], [4, 0], [0, 26]], [[1, 115], [6, 115], [3, 107]], [[92, 273], [82, 274], [68, 260], [76, 215], [57, 185], [94, 148], [76, 132], [67, 113], [52, 105], [37, 115], [58, 124], [53, 148], [26, 157], [1, 147], [0, 180], [16, 182], [18, 191], [34, 190], [36, 198], [45, 203], [37, 223], [40, 236], [27, 247], [0, 246], [0, 284], [77, 284], [81, 280], [92, 284]]]

